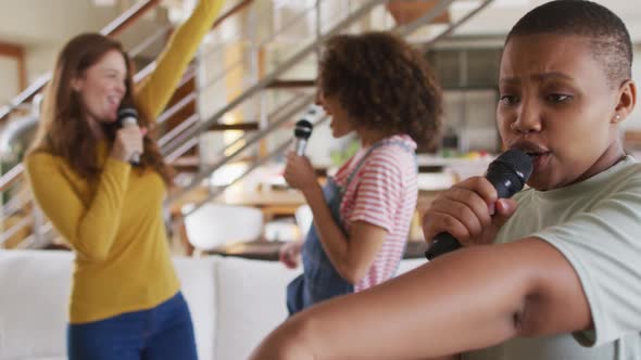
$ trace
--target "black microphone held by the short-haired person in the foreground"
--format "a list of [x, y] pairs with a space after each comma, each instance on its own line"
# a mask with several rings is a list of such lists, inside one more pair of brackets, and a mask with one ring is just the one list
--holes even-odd
[[[519, 192], [532, 173], [532, 158], [520, 150], [508, 150], [488, 166], [486, 178], [492, 183], [499, 198], [512, 197]], [[448, 232], [438, 233], [425, 252], [428, 260], [461, 247], [456, 237]]]

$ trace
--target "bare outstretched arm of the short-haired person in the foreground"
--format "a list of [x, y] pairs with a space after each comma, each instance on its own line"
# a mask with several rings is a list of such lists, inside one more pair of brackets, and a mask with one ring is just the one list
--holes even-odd
[[305, 310], [252, 359], [423, 359], [515, 336], [587, 330], [580, 281], [539, 239], [464, 248], [368, 291]]

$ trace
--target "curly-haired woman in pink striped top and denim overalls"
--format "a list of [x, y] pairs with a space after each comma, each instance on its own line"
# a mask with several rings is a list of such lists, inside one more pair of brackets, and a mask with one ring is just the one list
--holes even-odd
[[280, 259], [303, 274], [287, 288], [290, 314], [390, 279], [416, 207], [416, 143], [432, 141], [441, 91], [423, 56], [387, 33], [340, 35], [325, 46], [317, 102], [335, 138], [355, 132], [361, 150], [324, 188], [310, 160], [290, 153], [285, 178], [314, 216], [304, 242]]

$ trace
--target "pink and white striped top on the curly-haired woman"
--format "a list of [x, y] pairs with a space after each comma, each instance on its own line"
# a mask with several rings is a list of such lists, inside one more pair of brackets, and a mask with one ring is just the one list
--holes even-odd
[[[384, 140], [390, 141], [402, 142], [413, 151], [416, 149], [416, 143], [409, 136]], [[366, 152], [367, 149], [362, 149], [338, 170], [335, 180], [340, 187], [345, 185]], [[348, 233], [353, 221], [362, 220], [384, 228], [388, 235], [365, 278], [354, 284], [354, 292], [369, 288], [394, 275], [410, 233], [416, 197], [414, 155], [398, 144], [385, 144], [373, 150], [345, 190], [340, 216]]]

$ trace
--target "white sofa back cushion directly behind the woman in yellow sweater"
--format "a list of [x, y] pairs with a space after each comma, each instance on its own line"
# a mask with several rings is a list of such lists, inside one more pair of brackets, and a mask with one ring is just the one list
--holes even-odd
[[[177, 258], [175, 267], [201, 360], [214, 358], [216, 258]], [[73, 254], [0, 250], [0, 360], [65, 359]]]

